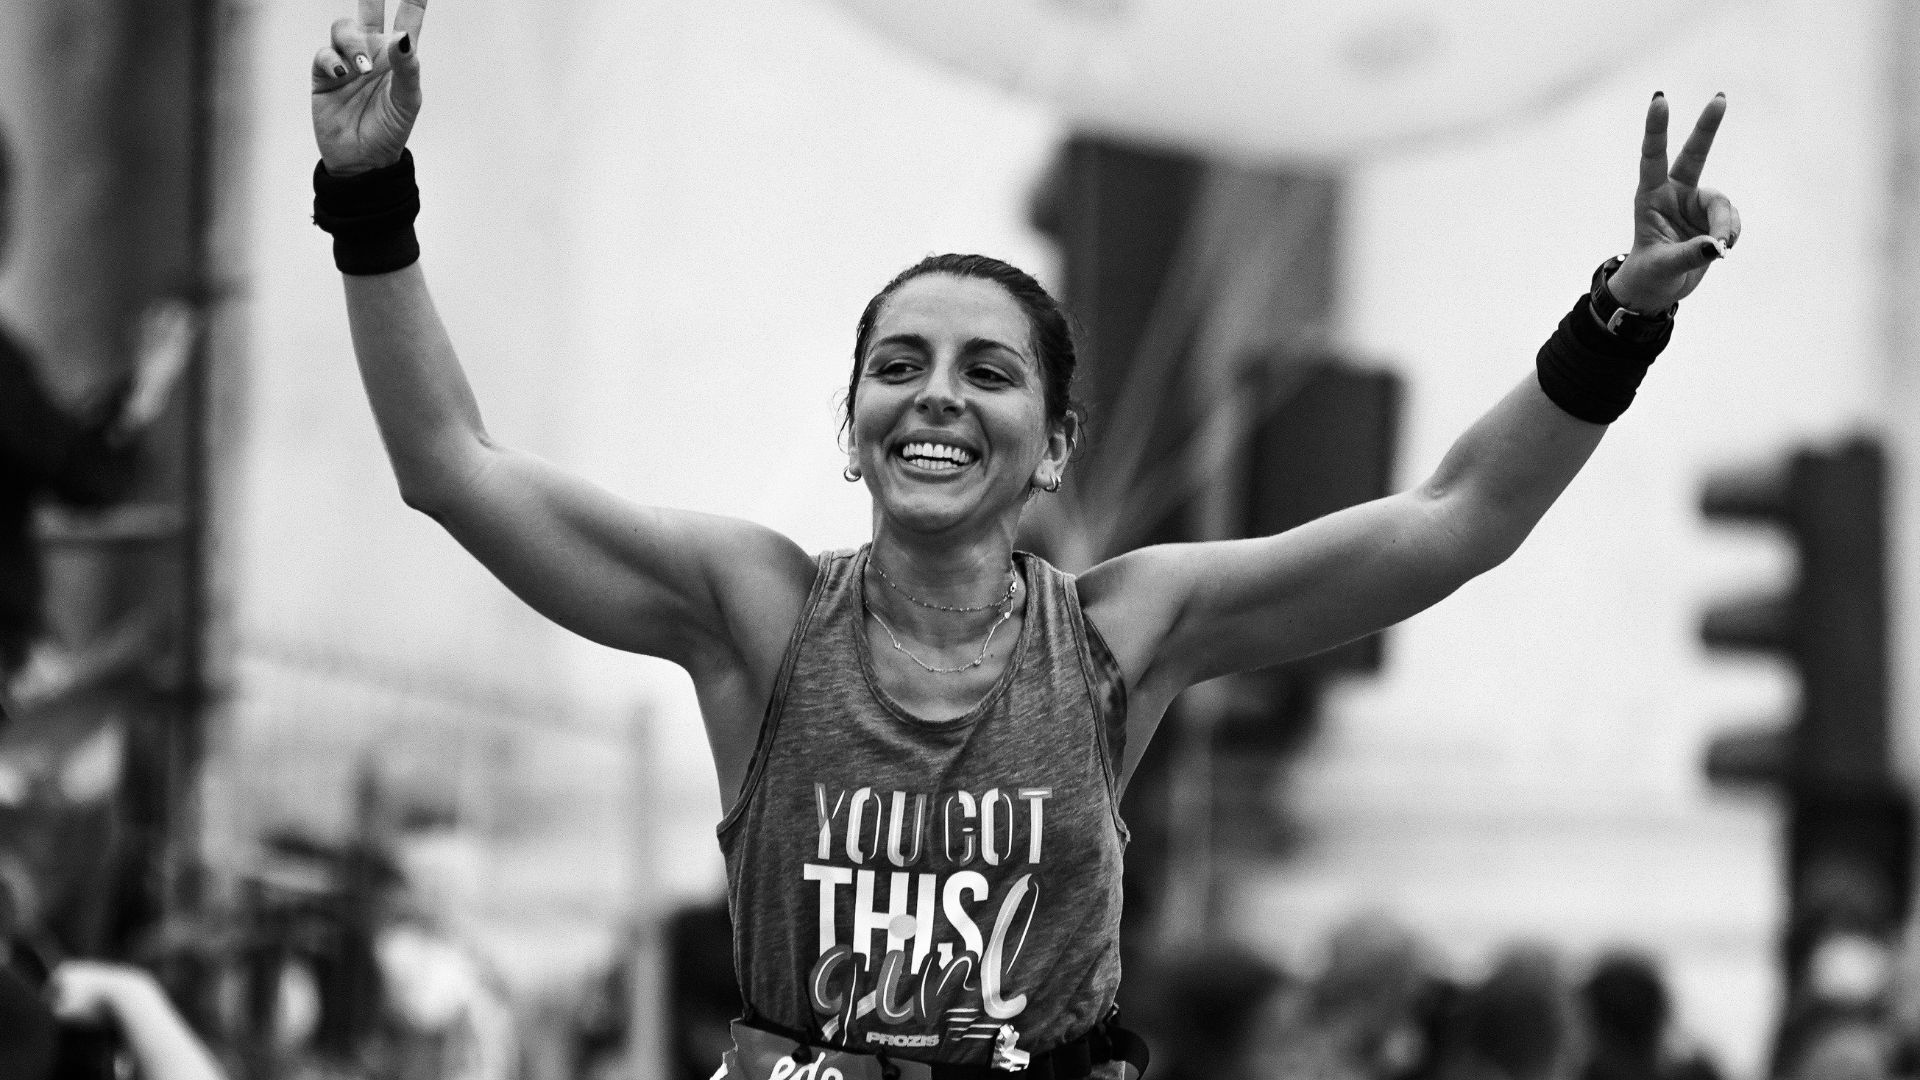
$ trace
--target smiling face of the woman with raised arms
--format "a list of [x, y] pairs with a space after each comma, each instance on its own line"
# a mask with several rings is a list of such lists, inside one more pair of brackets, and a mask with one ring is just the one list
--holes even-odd
[[916, 532], [1014, 521], [1066, 465], [1027, 313], [996, 282], [929, 273], [879, 309], [849, 454], [881, 515]]

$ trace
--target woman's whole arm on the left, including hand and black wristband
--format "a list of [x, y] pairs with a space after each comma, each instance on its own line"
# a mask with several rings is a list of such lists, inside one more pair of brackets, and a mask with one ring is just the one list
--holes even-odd
[[424, 4], [403, 0], [388, 33], [382, 0], [359, 0], [313, 63], [315, 221], [334, 233], [353, 352], [401, 498], [549, 619], [676, 661], [703, 692], [737, 686], [756, 723], [814, 563], [770, 528], [634, 505], [488, 436], [411, 242], [403, 152], [420, 106], [422, 19]]

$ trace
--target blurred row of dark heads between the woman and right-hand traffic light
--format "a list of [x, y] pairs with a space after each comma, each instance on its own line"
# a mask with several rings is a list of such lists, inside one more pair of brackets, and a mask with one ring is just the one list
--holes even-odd
[[1129, 972], [1162, 1080], [1718, 1080], [1659, 961], [1513, 944], [1478, 978], [1398, 924], [1338, 928], [1315, 972], [1246, 947]]

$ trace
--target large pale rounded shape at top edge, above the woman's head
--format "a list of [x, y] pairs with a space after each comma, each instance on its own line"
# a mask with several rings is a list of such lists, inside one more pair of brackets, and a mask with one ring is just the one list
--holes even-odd
[[1273, 161], [1344, 161], [1551, 104], [1722, 2], [841, 0], [1085, 127]]

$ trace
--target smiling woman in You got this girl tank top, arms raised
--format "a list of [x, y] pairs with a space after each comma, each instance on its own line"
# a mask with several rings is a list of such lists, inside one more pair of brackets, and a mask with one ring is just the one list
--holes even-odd
[[495, 442], [419, 265], [405, 150], [424, 8], [340, 19], [313, 63], [315, 221], [401, 496], [530, 605], [693, 678], [747, 1017], [722, 1074], [1117, 1078], [1119, 794], [1175, 694], [1400, 621], [1498, 565], [1632, 402], [1676, 302], [1738, 238], [1642, 142], [1630, 256], [1417, 488], [1279, 536], [1158, 546], [1081, 577], [1018, 552], [1079, 442], [1073, 336], [1029, 275], [935, 256], [860, 315], [847, 479], [872, 534], [632, 505]]

